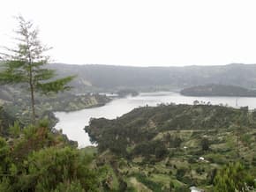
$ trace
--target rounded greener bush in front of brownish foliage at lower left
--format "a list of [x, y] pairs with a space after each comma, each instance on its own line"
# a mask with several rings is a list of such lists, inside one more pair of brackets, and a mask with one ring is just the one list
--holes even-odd
[[[67, 185], [69, 181], [78, 180], [87, 190], [94, 190], [96, 177], [94, 171], [87, 168], [85, 159], [80, 159], [79, 151], [72, 148], [49, 148], [33, 152], [27, 159], [28, 175], [32, 175], [31, 182], [35, 189], [41, 191], [52, 190], [58, 183]], [[21, 178], [27, 180], [27, 176]], [[26, 188], [31, 188], [30, 182]], [[24, 186], [25, 187], [25, 186]], [[70, 188], [73, 188], [73, 184]]]

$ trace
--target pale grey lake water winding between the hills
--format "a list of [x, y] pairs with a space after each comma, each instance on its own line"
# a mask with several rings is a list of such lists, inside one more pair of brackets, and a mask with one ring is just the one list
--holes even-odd
[[194, 100], [218, 105], [224, 104], [230, 107], [256, 108], [256, 98], [241, 97], [187, 97], [177, 92], [143, 92], [136, 97], [112, 100], [103, 107], [87, 108], [75, 112], [56, 112], [59, 122], [56, 129], [62, 129], [63, 133], [71, 140], [77, 141], [79, 148], [92, 145], [84, 127], [88, 125], [90, 118], [105, 117], [114, 119], [117, 116], [130, 112], [135, 107], [156, 106], [160, 103], [192, 104]]

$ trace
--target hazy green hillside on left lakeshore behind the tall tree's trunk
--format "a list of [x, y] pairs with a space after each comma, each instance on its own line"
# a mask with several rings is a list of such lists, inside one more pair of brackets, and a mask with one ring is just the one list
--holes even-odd
[[[108, 103], [111, 99], [103, 94], [81, 94], [76, 95], [73, 92], [61, 92], [59, 94], [49, 94], [47, 96], [36, 93], [35, 109], [37, 118], [48, 118], [51, 125], [56, 123], [56, 117], [53, 112], [56, 111], [77, 111], [89, 107], [99, 107]], [[3, 103], [1, 104], [1, 99]], [[30, 95], [26, 89], [20, 86], [0, 85], [0, 107], [19, 122], [23, 124], [30, 123]]]

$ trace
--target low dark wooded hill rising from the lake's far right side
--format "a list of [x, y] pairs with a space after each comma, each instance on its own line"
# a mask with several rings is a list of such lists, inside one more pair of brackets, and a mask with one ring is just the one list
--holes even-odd
[[256, 91], [234, 85], [199, 85], [184, 88], [181, 94], [186, 96], [231, 96], [256, 97]]

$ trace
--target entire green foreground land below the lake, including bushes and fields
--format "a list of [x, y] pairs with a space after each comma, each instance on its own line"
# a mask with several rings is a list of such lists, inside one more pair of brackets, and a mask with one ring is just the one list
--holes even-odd
[[92, 119], [85, 129], [98, 145], [84, 149], [47, 121], [19, 125], [3, 108], [0, 120], [0, 191], [256, 187], [256, 112], [247, 107], [160, 105]]

